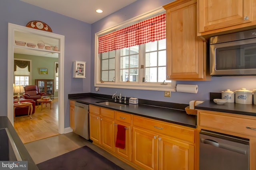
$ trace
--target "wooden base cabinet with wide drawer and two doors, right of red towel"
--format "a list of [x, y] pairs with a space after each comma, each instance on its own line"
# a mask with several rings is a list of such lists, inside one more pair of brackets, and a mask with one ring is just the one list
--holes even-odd
[[194, 129], [133, 116], [132, 134], [135, 164], [149, 170], [194, 170]]

